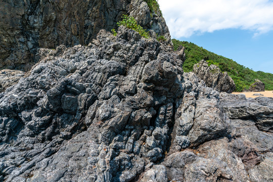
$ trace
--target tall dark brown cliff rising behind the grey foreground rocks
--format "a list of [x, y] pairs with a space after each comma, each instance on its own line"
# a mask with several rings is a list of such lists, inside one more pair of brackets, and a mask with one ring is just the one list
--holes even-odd
[[171, 43], [165, 20], [138, 1], [1, 1], [0, 68], [29, 70], [39, 48], [87, 45], [101, 29], [110, 31], [122, 14], [132, 15], [151, 34]]

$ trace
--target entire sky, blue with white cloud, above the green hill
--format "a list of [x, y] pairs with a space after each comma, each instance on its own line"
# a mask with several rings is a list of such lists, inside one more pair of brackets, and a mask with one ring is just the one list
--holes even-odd
[[273, 73], [273, 1], [158, 0], [172, 38]]

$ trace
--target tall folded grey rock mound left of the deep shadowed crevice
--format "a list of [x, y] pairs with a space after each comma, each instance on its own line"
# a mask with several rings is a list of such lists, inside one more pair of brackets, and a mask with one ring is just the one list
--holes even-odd
[[164, 156], [183, 94], [178, 55], [124, 27], [94, 42], [41, 50], [0, 95], [2, 179], [128, 181]]

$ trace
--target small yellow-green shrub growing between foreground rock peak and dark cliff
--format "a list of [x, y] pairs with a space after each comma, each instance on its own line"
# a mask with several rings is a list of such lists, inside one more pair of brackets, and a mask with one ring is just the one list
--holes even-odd
[[122, 15], [122, 20], [117, 22], [117, 25], [126, 26], [129, 29], [139, 32], [140, 35], [143, 36], [144, 38], [150, 38], [149, 32], [147, 32], [142, 26], [138, 25], [136, 20], [131, 16]]

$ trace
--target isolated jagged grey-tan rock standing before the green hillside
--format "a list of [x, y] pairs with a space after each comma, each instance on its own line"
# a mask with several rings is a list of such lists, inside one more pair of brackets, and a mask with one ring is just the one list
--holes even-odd
[[226, 72], [221, 72], [219, 67], [201, 60], [194, 65], [193, 72], [198, 78], [205, 81], [206, 85], [218, 92], [232, 93], [235, 90], [233, 79]]

